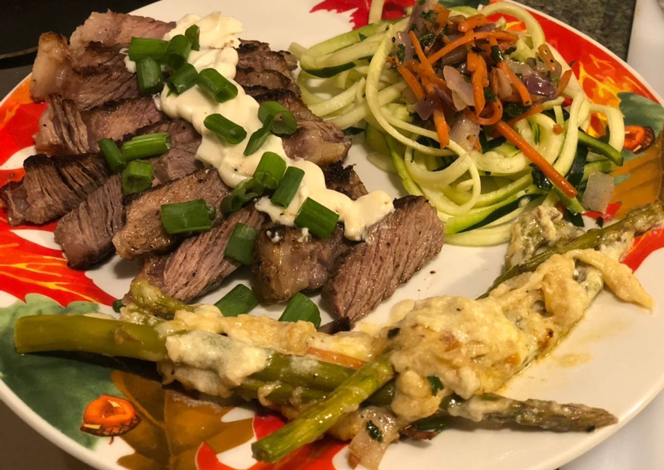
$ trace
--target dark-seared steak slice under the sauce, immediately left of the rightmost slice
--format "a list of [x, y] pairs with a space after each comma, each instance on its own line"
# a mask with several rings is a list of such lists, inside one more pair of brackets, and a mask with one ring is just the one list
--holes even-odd
[[[355, 200], [367, 194], [351, 166], [340, 163], [323, 168], [325, 186]], [[270, 304], [285, 302], [301, 290], [316, 290], [325, 284], [335, 260], [353, 245], [337, 225], [329, 238], [303, 235], [296, 227], [270, 224], [254, 241], [252, 288]]]

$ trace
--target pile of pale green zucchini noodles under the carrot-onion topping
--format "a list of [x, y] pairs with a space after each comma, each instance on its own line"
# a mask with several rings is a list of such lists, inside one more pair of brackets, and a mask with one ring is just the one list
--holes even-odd
[[[429, 80], [429, 84], [425, 83], [426, 80], [422, 79], [417, 68], [408, 66], [404, 56], [398, 57], [398, 46], [403, 47], [403, 44], [400, 42], [402, 38], [399, 41], [396, 39], [399, 32], [410, 29], [410, 17], [381, 21], [383, 7], [384, 0], [371, 2], [370, 24], [363, 28], [339, 34], [308, 49], [299, 44], [291, 45], [291, 52], [300, 58], [303, 68], [297, 84], [301, 88], [303, 101], [311, 111], [342, 129], [364, 128], [367, 143], [372, 148], [367, 159], [380, 170], [397, 174], [409, 194], [428, 198], [430, 204], [436, 207], [440, 220], [446, 223], [448, 243], [466, 246], [503, 243], [509, 240], [511, 227], [517, 217], [539, 205], [562, 202], [574, 213], [583, 211], [577, 198], [568, 198], [558, 186], [553, 189], [546, 186], [542, 182], [545, 177], [541, 172], [538, 178], [533, 176], [531, 158], [535, 156], [531, 151], [522, 151], [521, 144], [516, 147], [517, 142], [523, 139], [560, 175], [575, 172], [575, 184], [581, 180], [579, 189], [582, 191], [590, 174], [611, 172], [617, 166], [607, 159], [605, 150], [597, 150], [601, 147], [596, 146], [584, 162], [583, 174], [579, 175], [578, 164], [575, 164], [579, 145], [578, 129], [588, 130], [591, 117], [601, 115], [602, 122], [606, 121], [608, 128], [608, 144], [620, 151], [625, 137], [623, 117], [618, 109], [590, 102], [576, 76], [567, 72], [570, 66], [558, 50], [546, 42], [538, 21], [526, 9], [503, 1], [487, 5], [481, 11], [470, 7], [450, 8], [450, 15], [453, 16], [463, 15], [467, 18], [481, 13], [487, 16], [509, 15], [519, 19], [526, 30], [515, 33], [518, 36], [513, 42], [515, 49], [509, 52], [503, 50], [504, 54], [522, 64], [527, 62], [525, 65], [543, 77], [544, 72], [541, 69], [535, 70], [535, 64], [537, 61], [542, 62], [542, 54], [547, 54], [548, 48], [550, 56], [560, 66], [560, 75], [554, 78], [548, 76], [554, 87], [562, 74], [567, 72], [565, 80], [568, 81], [564, 89], [554, 99], [540, 102], [540, 112], [530, 111], [525, 119], [515, 119], [515, 123], [509, 123], [516, 132], [516, 135], [509, 137], [509, 141], [497, 137], [499, 135], [495, 131], [482, 125], [483, 137], [480, 137], [484, 141], [481, 141], [480, 146], [477, 142], [472, 143], [471, 139], [477, 135], [477, 131], [469, 135], [469, 143], [461, 142], [461, 136], [471, 132], [468, 123], [465, 127], [461, 126], [463, 131], [460, 135], [458, 132], [455, 134], [454, 123], [461, 122], [460, 114], [455, 115], [456, 110], [449, 101], [450, 109], [438, 108], [446, 109], [446, 120], [451, 119], [449, 137], [438, 123], [436, 130], [431, 119], [418, 119], [414, 91], [404, 77], [410, 80], [411, 86], [419, 84], [426, 93], [433, 93], [426, 87], [438, 82]], [[507, 21], [501, 17], [495, 22], [494, 29], [502, 30], [505, 25]], [[544, 46], [544, 49], [540, 46]], [[400, 52], [403, 54], [404, 49]], [[432, 53], [426, 50], [428, 56]], [[491, 60], [493, 55], [491, 59], [485, 57], [488, 66], [495, 64]], [[408, 78], [408, 70], [404, 72], [404, 69], [397, 69], [395, 63], [410, 67], [414, 76]], [[438, 71], [428, 73], [438, 74], [434, 80], [443, 80], [441, 68], [439, 62], [436, 65]], [[465, 73], [461, 68], [457, 70]], [[519, 75], [520, 70], [515, 68], [513, 72], [517, 80], [525, 83], [523, 76]], [[412, 83], [413, 78], [415, 84]], [[466, 78], [469, 80], [467, 74]], [[517, 91], [521, 93], [517, 85], [511, 82], [513, 96]], [[500, 86], [503, 87], [503, 84]], [[417, 91], [417, 88], [414, 90]], [[487, 93], [485, 89], [485, 96], [488, 96]], [[525, 102], [523, 95], [519, 97]], [[489, 97], [487, 104], [488, 101]], [[422, 109], [426, 109], [426, 106]], [[501, 110], [503, 112], [507, 115], [507, 106], [504, 111]], [[515, 114], [502, 119], [507, 122], [513, 116]], [[449, 139], [448, 145], [440, 148], [440, 139]], [[543, 164], [540, 162], [538, 166], [541, 168]]]

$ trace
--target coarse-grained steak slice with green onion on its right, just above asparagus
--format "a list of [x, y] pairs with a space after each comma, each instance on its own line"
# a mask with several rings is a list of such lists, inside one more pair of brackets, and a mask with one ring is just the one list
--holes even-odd
[[240, 263], [224, 256], [235, 225], [254, 229], [265, 217], [254, 207], [232, 213], [220, 225], [183, 241], [170, 255], [150, 257], [139, 277], [147, 278], [169, 296], [189, 302], [216, 288]]

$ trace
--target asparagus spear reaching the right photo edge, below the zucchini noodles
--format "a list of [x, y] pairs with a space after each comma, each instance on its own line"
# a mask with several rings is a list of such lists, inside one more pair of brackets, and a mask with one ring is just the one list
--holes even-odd
[[601, 229], [590, 229], [580, 237], [572, 239], [562, 245], [556, 245], [549, 249], [542, 251], [525, 261], [525, 263], [512, 266], [503, 274], [498, 276], [489, 287], [489, 290], [479, 296], [485, 298], [493, 289], [502, 284], [508, 279], [511, 279], [524, 272], [531, 272], [537, 269], [537, 266], [544, 263], [552, 255], [566, 253], [568, 251], [577, 249], [596, 248], [602, 243], [610, 243], [618, 239], [621, 233], [626, 231], [634, 231], [636, 233], [643, 233], [648, 231], [656, 225], [661, 225], [664, 222], [664, 207], [661, 202], [654, 202], [647, 206], [637, 207], [629, 212], [624, 219], [612, 223], [612, 225], [605, 225]]

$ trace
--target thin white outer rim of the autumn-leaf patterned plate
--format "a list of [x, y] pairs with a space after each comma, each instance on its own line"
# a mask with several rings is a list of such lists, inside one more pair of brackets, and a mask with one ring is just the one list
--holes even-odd
[[[151, 7], [155, 7], [157, 3], [168, 3], [169, 1], [175, 1], [175, 0], [157, 0], [154, 1], [153, 3], [149, 3], [148, 5], [143, 5], [143, 7], [134, 9], [132, 11], [129, 11], [127, 14], [132, 15], [132, 14], [139, 14], [139, 15], [145, 15], [145, 13], [141, 12], [144, 9], [150, 9]], [[629, 73], [631, 73], [635, 78], [637, 78], [639, 84], [644, 86], [649, 93], [655, 97], [657, 102], [664, 106], [664, 97], [659, 94], [659, 92], [654, 89], [643, 76], [637, 70], [635, 70], [630, 64], [626, 62], [626, 60], [623, 60], [618, 56], [615, 52], [604, 46], [604, 44], [601, 44], [594, 38], [588, 36], [585, 32], [582, 32], [571, 25], [568, 25], [567, 23], [564, 23], [563, 21], [552, 17], [551, 15], [548, 15], [547, 13], [544, 13], [538, 9], [535, 9], [533, 7], [530, 7], [529, 5], [524, 5], [523, 3], [519, 3], [518, 1], [515, 0], [502, 0], [507, 3], [513, 3], [515, 5], [519, 5], [520, 7], [523, 7], [527, 11], [531, 13], [536, 13], [537, 15], [540, 15], [541, 17], [546, 18], [548, 21], [551, 21], [552, 23], [556, 23], [556, 25], [563, 27], [565, 30], [568, 32], [572, 32], [576, 36], [579, 36], [580, 38], [583, 38], [586, 42], [590, 42], [594, 46], [600, 48], [603, 52], [608, 54], [613, 60], [621, 64]], [[489, 3], [493, 3], [493, 1], [489, 0]], [[482, 7], [485, 7], [486, 5], [482, 5]], [[481, 9], [480, 9], [481, 11]], [[338, 14], [333, 11], [329, 11], [328, 13], [330, 14]], [[352, 28], [352, 24], [349, 25], [349, 27]], [[631, 32], [630, 32], [631, 34]], [[2, 99], [0, 99], [0, 106], [5, 104], [5, 101], [17, 91], [17, 89], [22, 86], [27, 80], [30, 80], [32, 76], [32, 72], [27, 74], [23, 79], [21, 79], [16, 86], [14, 86]], [[471, 249], [476, 249], [476, 247], [469, 247]], [[21, 301], [20, 299], [17, 299], [17, 301]], [[663, 307], [663, 312], [664, 312], [664, 307]], [[584, 455], [588, 451], [590, 451], [592, 448], [596, 447], [600, 443], [606, 441], [610, 436], [613, 436], [616, 434], [616, 432], [620, 431], [623, 426], [625, 426], [627, 423], [629, 423], [643, 408], [645, 408], [654, 398], [657, 396], [660, 392], [664, 390], [664, 372], [661, 373], [661, 376], [659, 377], [659, 381], [655, 383], [655, 386], [653, 386], [647, 394], [647, 396], [641, 397], [642, 399], [635, 404], [635, 406], [631, 407], [630, 410], [625, 414], [625, 416], [618, 421], [618, 423], [614, 424], [613, 426], [609, 426], [606, 428], [602, 428], [602, 430], [598, 430], [593, 434], [588, 435], [588, 438], [582, 439], [579, 441], [578, 444], [573, 445], [572, 447], [568, 447], [568, 449], [564, 453], [559, 453], [558, 455], [555, 455], [554, 457], [551, 457], [547, 461], [540, 461], [539, 463], [533, 463], [531, 467], [528, 467], [526, 470], [548, 470], [552, 468], [558, 468], [562, 465], [565, 465], [566, 463], [570, 463], [570, 461], [573, 461], [577, 457], [580, 457], [581, 455]], [[9, 386], [1, 379], [0, 377], [0, 400], [7, 405], [7, 408], [11, 410], [14, 414], [16, 414], [23, 422], [28, 424], [35, 432], [40, 434], [44, 439], [48, 440], [50, 443], [56, 445], [58, 448], [62, 449], [66, 453], [76, 457], [80, 461], [86, 463], [87, 465], [90, 465], [90, 467], [94, 467], [95, 469], [98, 470], [125, 470], [124, 467], [120, 466], [116, 462], [108, 462], [102, 459], [100, 453], [98, 453], [95, 449], [96, 447], [93, 448], [88, 448], [85, 447], [84, 445], [78, 443], [74, 439], [70, 438], [69, 436], [66, 436], [62, 431], [60, 431], [58, 428], [50, 424], [48, 421], [44, 420], [33, 408], [31, 408], [28, 404], [26, 404], [15, 392], [9, 388]], [[592, 436], [592, 437], [590, 437]], [[122, 436], [120, 436], [122, 437]]]

